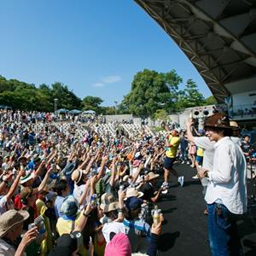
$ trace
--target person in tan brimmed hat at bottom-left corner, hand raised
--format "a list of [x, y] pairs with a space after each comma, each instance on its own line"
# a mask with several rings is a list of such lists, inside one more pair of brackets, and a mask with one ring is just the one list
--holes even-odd
[[20, 244], [17, 243], [23, 229], [23, 223], [28, 217], [28, 212], [17, 212], [16, 210], [9, 210], [0, 216], [0, 255], [21, 256], [26, 247], [36, 239], [38, 227], [28, 230], [22, 237]]

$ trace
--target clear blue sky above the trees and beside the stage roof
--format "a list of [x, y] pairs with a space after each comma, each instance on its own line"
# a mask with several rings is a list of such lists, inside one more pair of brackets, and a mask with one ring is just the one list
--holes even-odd
[[138, 71], [176, 69], [211, 95], [172, 38], [132, 0], [1, 0], [0, 31], [0, 74], [7, 79], [61, 82], [111, 106]]

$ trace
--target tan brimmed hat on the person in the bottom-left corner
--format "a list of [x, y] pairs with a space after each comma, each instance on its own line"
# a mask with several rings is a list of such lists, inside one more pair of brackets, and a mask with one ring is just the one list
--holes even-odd
[[5, 236], [9, 230], [12, 230], [16, 224], [23, 223], [29, 218], [26, 211], [9, 210], [0, 216], [0, 238]]

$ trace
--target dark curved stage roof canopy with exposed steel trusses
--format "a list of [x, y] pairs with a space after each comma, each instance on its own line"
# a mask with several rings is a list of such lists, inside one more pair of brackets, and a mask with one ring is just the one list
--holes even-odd
[[256, 0], [135, 0], [177, 43], [218, 102], [256, 90]]

